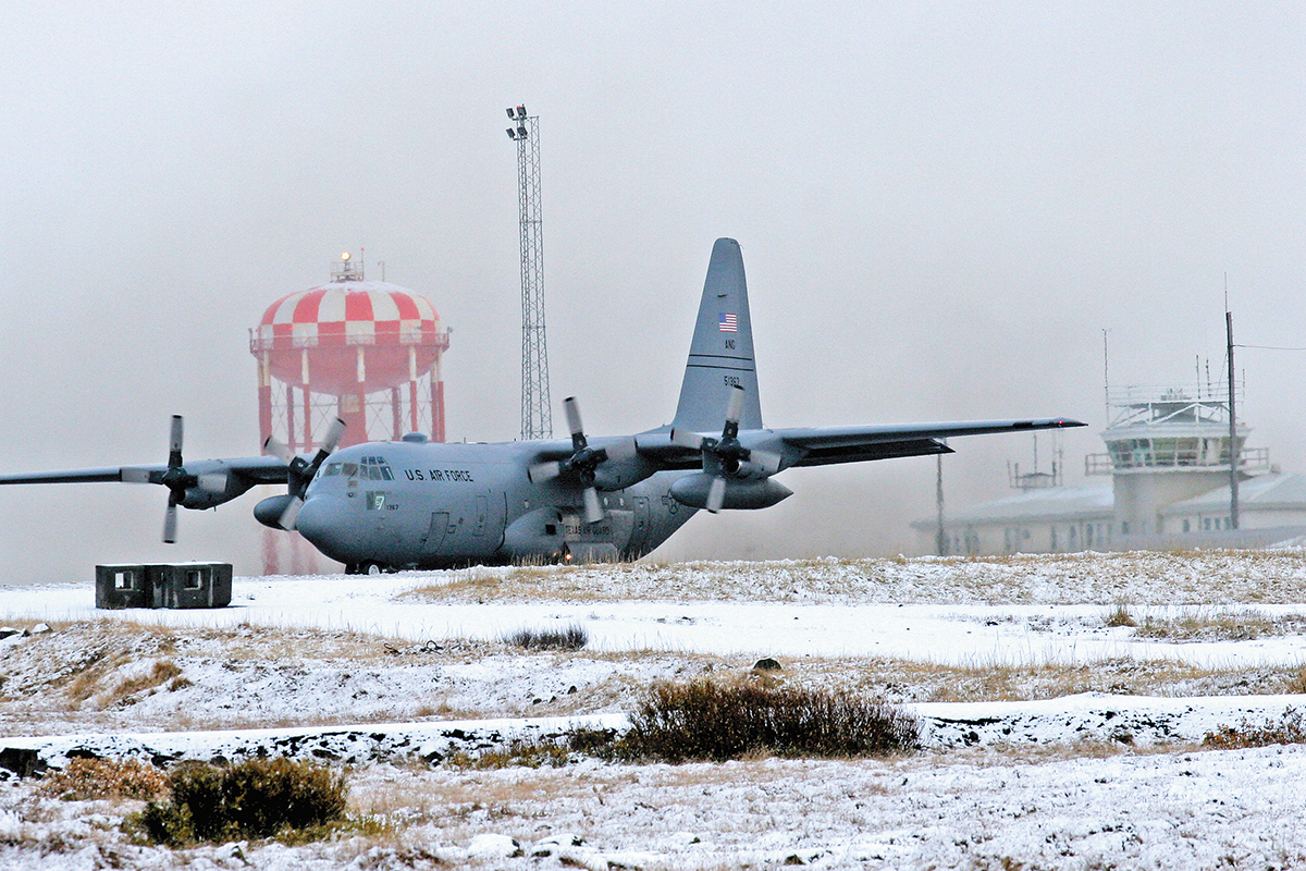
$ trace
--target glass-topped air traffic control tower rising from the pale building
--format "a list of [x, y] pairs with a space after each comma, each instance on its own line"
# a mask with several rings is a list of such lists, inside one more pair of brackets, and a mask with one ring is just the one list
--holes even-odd
[[[1237, 405], [1242, 388], [1234, 390]], [[1228, 388], [1111, 388], [1106, 404], [1111, 419], [1102, 432], [1106, 453], [1089, 454], [1084, 471], [1111, 475], [1122, 535], [1190, 531], [1166, 529], [1160, 509], [1228, 486], [1230, 457], [1237, 458], [1241, 481], [1269, 467], [1268, 448], [1246, 447], [1246, 426], [1230, 434]]]

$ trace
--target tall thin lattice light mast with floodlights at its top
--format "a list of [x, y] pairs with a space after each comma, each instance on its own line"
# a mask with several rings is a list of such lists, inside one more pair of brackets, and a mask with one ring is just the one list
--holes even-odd
[[545, 236], [539, 197], [539, 116], [508, 110], [508, 138], [517, 144], [521, 215], [521, 437], [551, 439], [549, 345], [545, 341]]

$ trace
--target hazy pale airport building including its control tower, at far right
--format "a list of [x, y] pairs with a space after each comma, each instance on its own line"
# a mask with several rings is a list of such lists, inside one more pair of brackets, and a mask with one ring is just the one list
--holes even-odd
[[[1234, 393], [1238, 401], [1237, 388]], [[1107, 394], [1105, 453], [1064, 486], [1060, 470], [1011, 473], [1015, 495], [944, 511], [913, 524], [922, 550], [946, 555], [1057, 554], [1084, 550], [1267, 547], [1306, 537], [1306, 478], [1249, 448], [1230, 428], [1228, 390], [1121, 388]], [[1237, 512], [1230, 458], [1237, 469]], [[1237, 526], [1237, 529], [1234, 529]]]

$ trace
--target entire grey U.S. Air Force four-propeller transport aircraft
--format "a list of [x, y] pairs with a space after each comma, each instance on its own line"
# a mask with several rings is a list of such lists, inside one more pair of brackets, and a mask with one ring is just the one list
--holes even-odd
[[793, 491], [774, 479], [821, 466], [952, 453], [940, 439], [1084, 426], [1064, 418], [769, 430], [761, 423], [743, 257], [712, 249], [675, 417], [633, 436], [589, 437], [575, 398], [571, 439], [440, 444], [421, 434], [334, 451], [336, 420], [316, 454], [187, 462], [172, 418], [166, 465], [0, 475], [0, 484], [120, 481], [168, 490], [176, 509], [213, 508], [255, 484], [285, 483], [255, 517], [298, 530], [350, 573], [513, 562], [636, 559], [699, 509], [769, 508]]

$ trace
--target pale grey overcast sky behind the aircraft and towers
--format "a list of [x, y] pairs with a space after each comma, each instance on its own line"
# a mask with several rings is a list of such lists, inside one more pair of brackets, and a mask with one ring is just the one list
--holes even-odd
[[[515, 437], [517, 103], [559, 430], [569, 394], [593, 434], [669, 420], [717, 236], [743, 248], [768, 424], [1072, 415], [1070, 483], [1104, 449], [1104, 330], [1113, 384], [1217, 371], [1228, 274], [1239, 342], [1306, 346], [1299, 3], [16, 5], [5, 471], [162, 462], [174, 413], [188, 458], [257, 453], [247, 330], [360, 247], [453, 329], [449, 437]], [[1306, 353], [1238, 362], [1252, 444], [1306, 473]], [[1033, 460], [1027, 436], [953, 447], [957, 505]], [[934, 467], [793, 470], [784, 504], [662, 554], [910, 550]], [[163, 548], [161, 487], [5, 488], [0, 582], [253, 572], [255, 501], [183, 512]]]

